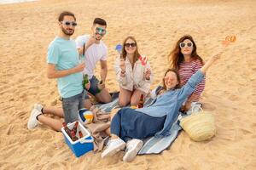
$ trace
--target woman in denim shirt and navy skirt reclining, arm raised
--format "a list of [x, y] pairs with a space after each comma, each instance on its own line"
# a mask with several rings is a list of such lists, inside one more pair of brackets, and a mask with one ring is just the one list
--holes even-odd
[[204, 78], [207, 69], [219, 56], [220, 53], [212, 56], [199, 71], [189, 78], [183, 88], [179, 88], [180, 79], [177, 72], [166, 71], [163, 79], [165, 92], [157, 96], [150, 105], [137, 110], [130, 108], [119, 110], [113, 116], [111, 139], [107, 149], [102, 152], [102, 158], [113, 156], [119, 150], [125, 149], [126, 145], [123, 160], [132, 161], [143, 146], [142, 139], [150, 136], [170, 135], [172, 123], [177, 118], [179, 108], [193, 93], [196, 85]]

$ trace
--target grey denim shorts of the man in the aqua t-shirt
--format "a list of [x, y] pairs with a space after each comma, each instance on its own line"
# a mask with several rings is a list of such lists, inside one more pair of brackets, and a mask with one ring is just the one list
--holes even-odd
[[70, 98], [62, 99], [65, 122], [75, 122], [79, 120], [79, 109], [84, 108], [84, 93], [74, 95]]

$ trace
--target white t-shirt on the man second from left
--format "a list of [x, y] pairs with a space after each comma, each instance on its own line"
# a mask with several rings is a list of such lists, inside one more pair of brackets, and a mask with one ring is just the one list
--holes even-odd
[[[84, 35], [77, 37], [76, 44], [77, 48], [82, 48], [84, 43], [89, 40], [90, 35]], [[94, 75], [94, 70], [96, 68], [96, 63], [99, 60], [107, 60], [108, 48], [102, 40], [99, 44], [93, 43], [84, 54], [85, 68], [83, 73], [88, 74], [88, 77], [91, 78]]]

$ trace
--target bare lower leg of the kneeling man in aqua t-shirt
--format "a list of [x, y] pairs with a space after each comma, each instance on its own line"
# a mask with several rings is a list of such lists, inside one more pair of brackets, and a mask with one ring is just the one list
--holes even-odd
[[57, 120], [57, 119], [51, 118], [49, 116], [39, 115], [38, 121], [53, 128], [55, 131], [59, 131], [59, 132], [61, 131], [61, 127], [62, 127], [61, 120]]

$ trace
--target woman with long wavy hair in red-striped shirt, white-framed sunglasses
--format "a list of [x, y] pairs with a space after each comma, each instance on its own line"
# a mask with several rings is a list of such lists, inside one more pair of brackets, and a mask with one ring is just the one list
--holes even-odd
[[[185, 35], [177, 41], [175, 48], [169, 54], [169, 59], [171, 68], [178, 71], [182, 86], [204, 65], [203, 60], [196, 52], [195, 41], [189, 35]], [[193, 94], [184, 103], [182, 111], [188, 111], [192, 102], [199, 101], [204, 88], [205, 78], [197, 85]]]

